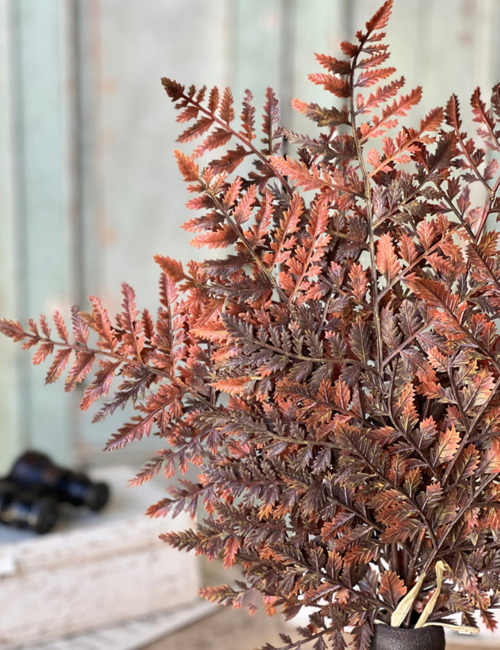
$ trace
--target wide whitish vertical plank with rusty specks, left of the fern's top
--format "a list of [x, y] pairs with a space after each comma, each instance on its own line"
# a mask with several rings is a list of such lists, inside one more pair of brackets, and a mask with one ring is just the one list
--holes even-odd
[[[92, 0], [81, 8], [85, 295], [99, 295], [114, 315], [125, 281], [139, 308], [154, 315], [159, 269], [153, 255], [204, 256], [181, 228], [189, 197], [173, 151], [183, 125], [176, 124], [160, 79], [187, 87], [228, 83], [227, 0]], [[117, 462], [151, 455], [156, 441], [99, 453], [127, 415], [91, 424], [83, 413], [80, 456]]]

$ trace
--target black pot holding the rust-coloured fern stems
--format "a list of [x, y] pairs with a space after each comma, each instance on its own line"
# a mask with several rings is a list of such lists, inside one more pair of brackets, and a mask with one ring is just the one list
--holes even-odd
[[417, 630], [376, 625], [370, 650], [444, 650], [444, 630], [440, 625]]

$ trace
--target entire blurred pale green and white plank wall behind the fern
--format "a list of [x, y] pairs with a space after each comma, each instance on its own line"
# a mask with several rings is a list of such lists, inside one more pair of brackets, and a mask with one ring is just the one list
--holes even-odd
[[[154, 253], [184, 260], [178, 127], [161, 76], [328, 103], [306, 81], [313, 52], [338, 54], [378, 0], [0, 0], [0, 315], [68, 313], [98, 294], [119, 309], [122, 281], [156, 310]], [[422, 109], [500, 80], [498, 0], [395, 0], [392, 61]], [[300, 117], [300, 116], [299, 116]], [[44, 387], [19, 346], [0, 340], [0, 471], [27, 445], [60, 461], [100, 453], [117, 422], [90, 425], [78, 396]], [[137, 459], [139, 460], [139, 459]], [[135, 461], [134, 461], [135, 462]]]

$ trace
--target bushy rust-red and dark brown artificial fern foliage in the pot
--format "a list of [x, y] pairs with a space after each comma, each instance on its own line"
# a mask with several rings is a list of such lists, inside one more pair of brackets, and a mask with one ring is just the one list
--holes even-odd
[[326, 108], [294, 101], [313, 135], [280, 126], [270, 89], [260, 126], [249, 91], [238, 116], [227, 88], [163, 79], [178, 141], [200, 142], [176, 151], [184, 227], [217, 255], [158, 255], [156, 315], [123, 285], [113, 323], [92, 297], [71, 336], [58, 313], [54, 335], [44, 317], [1, 322], [33, 363], [53, 358], [48, 383], [69, 367], [69, 391], [94, 370], [94, 420], [133, 404], [106, 448], [152, 433], [164, 447], [134, 483], [198, 467], [149, 515], [203, 506], [164, 537], [240, 563], [242, 581], [202, 590], [211, 601], [258, 590], [270, 613], [310, 606], [288, 649], [343, 650], [353, 626], [367, 650], [374, 622], [476, 628], [478, 612], [494, 628], [499, 606], [500, 85], [490, 106], [472, 95], [476, 140], [454, 95], [401, 125], [421, 89], [387, 65], [391, 8], [341, 58], [316, 56]]

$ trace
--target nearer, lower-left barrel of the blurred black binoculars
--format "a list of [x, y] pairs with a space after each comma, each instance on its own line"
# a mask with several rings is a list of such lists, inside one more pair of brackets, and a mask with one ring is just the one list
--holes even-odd
[[0, 522], [35, 533], [48, 533], [58, 519], [58, 503], [35, 487], [0, 481]]

